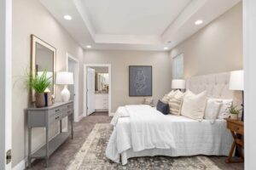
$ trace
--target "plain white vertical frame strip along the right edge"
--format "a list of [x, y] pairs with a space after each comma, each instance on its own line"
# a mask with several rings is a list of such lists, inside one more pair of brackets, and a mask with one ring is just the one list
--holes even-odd
[[256, 169], [256, 1], [243, 0], [244, 138], [245, 169]]

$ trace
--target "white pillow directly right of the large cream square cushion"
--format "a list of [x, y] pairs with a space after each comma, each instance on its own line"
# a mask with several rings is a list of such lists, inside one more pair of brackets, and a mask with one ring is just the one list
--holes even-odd
[[220, 107], [222, 106], [222, 99], [207, 99], [207, 106], [205, 110], [205, 119], [215, 121], [218, 117]]

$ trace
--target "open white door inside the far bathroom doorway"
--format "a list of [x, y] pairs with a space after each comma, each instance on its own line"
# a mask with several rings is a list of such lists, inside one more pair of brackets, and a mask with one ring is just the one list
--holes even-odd
[[95, 70], [87, 68], [87, 114], [95, 112]]

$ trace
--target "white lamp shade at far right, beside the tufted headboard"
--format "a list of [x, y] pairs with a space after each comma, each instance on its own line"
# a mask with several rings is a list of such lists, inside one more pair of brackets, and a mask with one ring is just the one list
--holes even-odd
[[243, 71], [230, 72], [230, 90], [243, 90]]

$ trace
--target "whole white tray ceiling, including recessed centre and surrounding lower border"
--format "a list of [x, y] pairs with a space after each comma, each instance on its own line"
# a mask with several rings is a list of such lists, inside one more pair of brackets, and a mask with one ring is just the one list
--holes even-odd
[[175, 47], [240, 1], [40, 0], [83, 48], [155, 51]]

